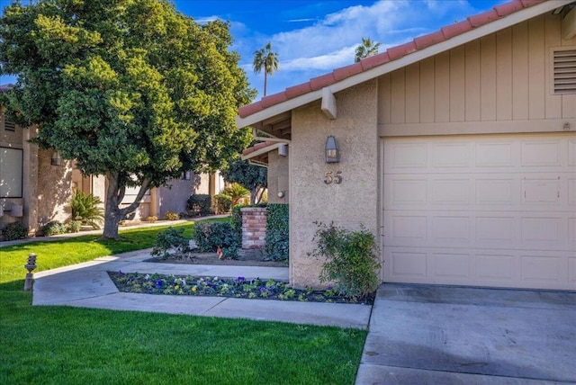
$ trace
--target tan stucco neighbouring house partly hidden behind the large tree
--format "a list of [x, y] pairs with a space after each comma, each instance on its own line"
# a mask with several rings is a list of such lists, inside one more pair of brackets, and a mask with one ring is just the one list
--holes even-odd
[[[7, 92], [12, 85], [0, 85]], [[8, 121], [0, 111], [0, 228], [8, 223], [22, 222], [31, 235], [51, 220], [70, 219], [69, 203], [75, 189], [93, 193], [105, 201], [106, 181], [103, 176], [83, 176], [75, 162], [61, 159], [58, 151], [38, 148], [28, 140], [37, 128], [22, 127]], [[167, 211], [186, 210], [192, 193], [211, 196], [220, 193], [224, 181], [220, 173], [193, 175], [169, 181], [168, 187], [151, 189], [136, 210], [134, 219], [149, 216], [164, 218]], [[126, 191], [122, 204], [134, 201], [137, 189]]]

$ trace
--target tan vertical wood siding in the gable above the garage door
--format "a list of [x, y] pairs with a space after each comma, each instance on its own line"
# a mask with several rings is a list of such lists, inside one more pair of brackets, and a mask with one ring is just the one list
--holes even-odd
[[559, 15], [543, 14], [379, 79], [380, 124], [576, 118], [576, 94], [550, 92]]

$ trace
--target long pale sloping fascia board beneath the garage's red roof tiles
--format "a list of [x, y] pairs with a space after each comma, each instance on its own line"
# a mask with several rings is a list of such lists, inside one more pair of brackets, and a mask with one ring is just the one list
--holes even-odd
[[[410, 53], [402, 58], [392, 60], [388, 63], [384, 63], [380, 66], [373, 67], [365, 70], [359, 74], [349, 76], [346, 79], [340, 80], [332, 85], [329, 85], [329, 89], [332, 93], [338, 93], [344, 89], [347, 89], [354, 85], [359, 85], [365, 81], [372, 80], [378, 76], [383, 76], [401, 67], [409, 66], [410, 64], [416, 63], [425, 58], [430, 58], [438, 53], [444, 52], [449, 49], [454, 49], [460, 45], [468, 43], [473, 40], [480, 39], [484, 36], [490, 35], [496, 31], [503, 30], [512, 25], [518, 24], [518, 22], [525, 22], [533, 17], [539, 16], [540, 14], [553, 11], [554, 9], [561, 7], [566, 4], [570, 4], [572, 0], [549, 0], [544, 3], [532, 5], [516, 13], [509, 14], [506, 17], [489, 22], [482, 26], [473, 28], [471, 31], [466, 31], [455, 37], [438, 42], [428, 48], [419, 49], [413, 53]], [[244, 128], [259, 121], [264, 121], [275, 115], [283, 112], [288, 112], [294, 108], [300, 107], [304, 104], [311, 103], [320, 100], [322, 97], [322, 89], [311, 91], [308, 94], [302, 94], [293, 99], [288, 99], [285, 102], [277, 103], [270, 107], [267, 107], [261, 111], [255, 112], [244, 118], [236, 117], [236, 123], [238, 128]]]

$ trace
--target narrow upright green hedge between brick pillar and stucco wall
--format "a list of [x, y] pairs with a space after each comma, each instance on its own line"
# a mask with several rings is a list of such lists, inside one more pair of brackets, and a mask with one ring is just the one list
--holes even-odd
[[288, 205], [269, 204], [266, 218], [266, 255], [275, 261], [285, 261], [289, 255], [290, 234]]

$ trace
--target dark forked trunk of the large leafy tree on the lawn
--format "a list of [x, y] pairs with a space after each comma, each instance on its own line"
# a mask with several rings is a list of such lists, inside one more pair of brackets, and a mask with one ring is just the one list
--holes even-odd
[[121, 209], [120, 204], [124, 199], [126, 184], [119, 181], [118, 174], [108, 173], [108, 186], [106, 188], [106, 208], [104, 213], [104, 229], [102, 237], [104, 239], [120, 239], [118, 235], [118, 223], [121, 219], [136, 210], [142, 201], [142, 197], [149, 189], [149, 181], [145, 180], [140, 186], [136, 198], [130, 206]]

